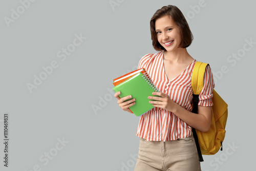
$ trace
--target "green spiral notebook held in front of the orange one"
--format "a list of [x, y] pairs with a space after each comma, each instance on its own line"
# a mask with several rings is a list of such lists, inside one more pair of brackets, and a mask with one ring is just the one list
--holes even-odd
[[149, 103], [148, 96], [153, 96], [153, 92], [159, 92], [151, 79], [142, 73], [135, 74], [133, 77], [118, 84], [113, 90], [115, 92], [120, 91], [119, 97], [121, 98], [129, 95], [132, 95], [132, 99], [135, 98], [136, 103], [130, 109], [136, 116], [140, 116], [154, 108]]

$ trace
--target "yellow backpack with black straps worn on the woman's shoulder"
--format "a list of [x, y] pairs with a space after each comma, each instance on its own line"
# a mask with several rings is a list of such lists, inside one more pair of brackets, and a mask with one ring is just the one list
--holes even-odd
[[[194, 92], [193, 98], [193, 113], [198, 113], [199, 94], [204, 86], [204, 73], [208, 63], [197, 61], [193, 69], [191, 77], [191, 87]], [[227, 122], [227, 103], [219, 96], [219, 94], [212, 90], [214, 96], [212, 97], [211, 111], [211, 125], [207, 132], [201, 132], [193, 128], [193, 134], [197, 144], [200, 161], [203, 161], [203, 155], [214, 155], [221, 148], [222, 142], [225, 138], [225, 127]]]

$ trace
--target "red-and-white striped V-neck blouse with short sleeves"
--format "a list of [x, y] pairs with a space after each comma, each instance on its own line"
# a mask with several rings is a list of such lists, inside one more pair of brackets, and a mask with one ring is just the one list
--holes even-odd
[[[193, 90], [191, 75], [196, 59], [176, 78], [168, 80], [163, 63], [163, 51], [156, 54], [146, 54], [139, 61], [138, 69], [145, 68], [159, 91], [169, 95], [177, 104], [192, 111]], [[199, 95], [199, 105], [212, 106], [212, 89], [214, 79], [209, 66], [204, 75], [204, 88]], [[137, 136], [147, 141], [168, 141], [186, 138], [191, 135], [191, 127], [174, 113], [162, 108], [153, 108], [140, 116]]]

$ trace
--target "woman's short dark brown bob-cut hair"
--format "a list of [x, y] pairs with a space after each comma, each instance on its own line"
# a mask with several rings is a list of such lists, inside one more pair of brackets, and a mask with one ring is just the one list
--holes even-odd
[[191, 45], [193, 40], [193, 34], [191, 33], [187, 21], [180, 11], [180, 9], [173, 5], [163, 6], [161, 9], [158, 9], [150, 20], [150, 30], [151, 30], [151, 39], [152, 45], [156, 51], [166, 51], [157, 40], [157, 33], [155, 23], [158, 18], [161, 18], [165, 15], [169, 15], [173, 22], [179, 27], [181, 33], [181, 42], [179, 47], [187, 48]]

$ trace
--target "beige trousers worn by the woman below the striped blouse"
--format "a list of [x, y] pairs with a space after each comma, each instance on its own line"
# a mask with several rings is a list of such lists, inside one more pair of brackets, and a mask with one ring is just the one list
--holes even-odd
[[140, 138], [134, 171], [157, 170], [201, 171], [193, 135], [166, 142]]

